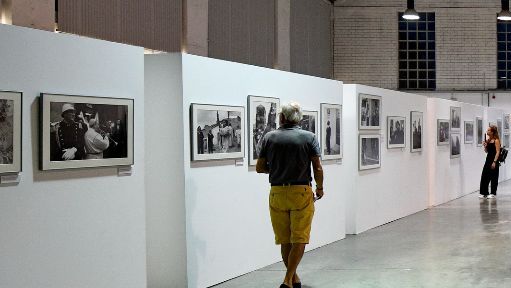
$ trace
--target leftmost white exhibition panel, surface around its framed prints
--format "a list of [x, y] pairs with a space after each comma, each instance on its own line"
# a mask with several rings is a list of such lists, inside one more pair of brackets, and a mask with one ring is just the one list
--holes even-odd
[[[23, 172], [0, 185], [0, 287], [146, 287], [143, 49], [0, 25], [0, 90], [23, 92]], [[135, 100], [133, 174], [39, 171], [39, 93]]]

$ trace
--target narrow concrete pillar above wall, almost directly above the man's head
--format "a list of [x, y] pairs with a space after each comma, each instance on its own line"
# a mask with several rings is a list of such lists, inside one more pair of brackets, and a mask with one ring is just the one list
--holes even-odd
[[291, 70], [291, 0], [277, 0], [276, 2], [276, 36], [274, 68]]

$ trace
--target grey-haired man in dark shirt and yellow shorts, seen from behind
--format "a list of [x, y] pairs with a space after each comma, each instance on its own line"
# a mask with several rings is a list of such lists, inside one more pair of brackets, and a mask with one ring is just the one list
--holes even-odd
[[281, 245], [287, 267], [280, 288], [301, 287], [296, 274], [309, 243], [314, 215], [314, 192], [311, 187], [311, 164], [316, 181], [316, 199], [323, 197], [323, 168], [316, 136], [300, 129], [302, 109], [298, 103], [282, 106], [280, 128], [261, 140], [257, 173], [268, 173], [271, 183], [270, 217], [275, 243]]

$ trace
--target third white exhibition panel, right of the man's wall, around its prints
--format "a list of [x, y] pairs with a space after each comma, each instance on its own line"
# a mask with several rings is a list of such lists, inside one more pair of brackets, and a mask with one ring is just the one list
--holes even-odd
[[[423, 124], [423, 150], [410, 153], [410, 112], [423, 112], [427, 121], [425, 96], [364, 85], [344, 86], [345, 162], [355, 179], [347, 193], [348, 234], [358, 234], [428, 207], [427, 147]], [[358, 94], [382, 97], [381, 130], [358, 130]], [[387, 149], [387, 116], [406, 118], [406, 148]], [[360, 132], [360, 133], [359, 133]], [[381, 168], [358, 171], [358, 135], [381, 135]], [[350, 141], [347, 141], [350, 139]]]

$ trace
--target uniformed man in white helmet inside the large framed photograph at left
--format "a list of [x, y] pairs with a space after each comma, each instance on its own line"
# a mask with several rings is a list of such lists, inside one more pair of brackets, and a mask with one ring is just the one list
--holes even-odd
[[85, 156], [84, 135], [87, 127], [75, 122], [73, 104], [62, 105], [61, 116], [63, 120], [51, 129], [50, 160], [82, 160]]

